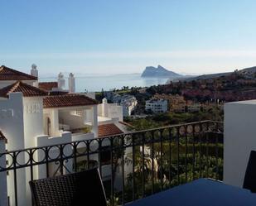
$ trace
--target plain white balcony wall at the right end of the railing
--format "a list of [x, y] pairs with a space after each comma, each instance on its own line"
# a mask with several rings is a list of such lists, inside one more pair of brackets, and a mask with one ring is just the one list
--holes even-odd
[[224, 181], [242, 187], [250, 151], [256, 151], [256, 100], [225, 103]]

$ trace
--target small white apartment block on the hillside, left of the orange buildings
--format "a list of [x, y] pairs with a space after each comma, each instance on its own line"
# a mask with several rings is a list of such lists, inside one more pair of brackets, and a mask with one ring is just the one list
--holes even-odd
[[166, 113], [168, 111], [168, 101], [167, 99], [147, 100], [145, 109], [152, 111], [152, 113]]

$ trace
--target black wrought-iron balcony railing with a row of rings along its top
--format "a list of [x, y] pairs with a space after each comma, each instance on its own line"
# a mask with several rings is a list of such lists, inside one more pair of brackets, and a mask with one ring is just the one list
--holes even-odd
[[0, 165], [0, 175], [7, 173], [11, 205], [21, 205], [22, 198], [30, 197], [24, 194], [29, 193], [29, 180], [93, 166], [99, 166], [109, 204], [126, 204], [200, 177], [222, 180], [223, 123], [192, 122], [7, 151], [0, 154], [1, 159], [7, 160], [7, 165]]

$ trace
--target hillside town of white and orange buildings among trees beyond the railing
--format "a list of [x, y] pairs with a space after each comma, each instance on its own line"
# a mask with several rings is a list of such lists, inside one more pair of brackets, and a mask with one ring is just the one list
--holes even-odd
[[[161, 66], [155, 69], [159, 71], [159, 68], [163, 69]], [[123, 86], [102, 90], [96, 93], [96, 98], [123, 106], [124, 119], [138, 129], [191, 120], [223, 121], [225, 103], [256, 98], [255, 71], [254, 68], [236, 69], [231, 73], [180, 79], [146, 88]], [[147, 124], [142, 126], [145, 118]]]

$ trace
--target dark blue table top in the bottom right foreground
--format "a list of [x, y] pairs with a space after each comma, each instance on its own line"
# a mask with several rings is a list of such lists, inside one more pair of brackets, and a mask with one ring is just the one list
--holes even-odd
[[128, 206], [255, 206], [256, 194], [220, 181], [199, 179], [138, 199]]

